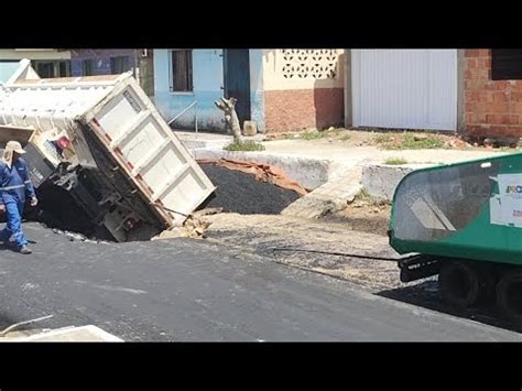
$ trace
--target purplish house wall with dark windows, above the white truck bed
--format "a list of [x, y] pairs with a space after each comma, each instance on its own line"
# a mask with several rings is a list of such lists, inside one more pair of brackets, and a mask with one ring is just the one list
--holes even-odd
[[112, 57], [129, 57], [130, 68], [135, 67], [134, 50], [132, 48], [83, 48], [70, 52], [70, 75], [83, 76], [84, 59], [93, 59], [93, 75], [110, 75]]

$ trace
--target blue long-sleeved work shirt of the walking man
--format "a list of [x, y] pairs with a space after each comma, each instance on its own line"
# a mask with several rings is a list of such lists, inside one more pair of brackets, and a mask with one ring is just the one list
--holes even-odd
[[22, 158], [11, 164], [11, 169], [0, 161], [0, 204], [25, 203], [25, 197], [34, 197], [34, 187], [29, 178], [28, 163]]

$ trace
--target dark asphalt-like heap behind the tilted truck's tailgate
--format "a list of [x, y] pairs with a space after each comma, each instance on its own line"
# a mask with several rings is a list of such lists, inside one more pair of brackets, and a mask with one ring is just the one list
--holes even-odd
[[297, 192], [257, 181], [252, 174], [209, 163], [199, 164], [217, 186], [214, 196], [209, 197], [202, 208], [221, 207], [224, 211], [242, 215], [279, 215], [300, 198]]

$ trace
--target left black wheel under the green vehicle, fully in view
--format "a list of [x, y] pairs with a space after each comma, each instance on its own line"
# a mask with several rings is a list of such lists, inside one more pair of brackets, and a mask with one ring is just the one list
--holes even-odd
[[453, 306], [467, 308], [480, 298], [481, 278], [478, 270], [465, 262], [442, 262], [438, 275], [441, 297]]

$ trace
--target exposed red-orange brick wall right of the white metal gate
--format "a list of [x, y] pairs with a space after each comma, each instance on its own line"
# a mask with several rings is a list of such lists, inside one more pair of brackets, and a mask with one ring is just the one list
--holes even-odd
[[490, 50], [466, 50], [464, 55], [465, 132], [522, 137], [522, 80], [492, 80]]

